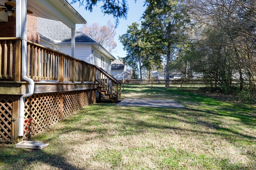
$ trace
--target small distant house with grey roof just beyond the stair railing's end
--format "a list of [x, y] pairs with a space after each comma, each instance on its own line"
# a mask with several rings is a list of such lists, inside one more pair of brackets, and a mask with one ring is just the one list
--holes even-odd
[[115, 60], [111, 63], [111, 75], [116, 79], [130, 79], [132, 70], [127, 69], [121, 60]]

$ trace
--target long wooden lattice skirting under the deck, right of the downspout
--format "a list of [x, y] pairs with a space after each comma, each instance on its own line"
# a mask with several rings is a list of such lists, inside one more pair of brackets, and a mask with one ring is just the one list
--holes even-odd
[[95, 90], [33, 94], [25, 100], [22, 140], [27, 140], [95, 102]]

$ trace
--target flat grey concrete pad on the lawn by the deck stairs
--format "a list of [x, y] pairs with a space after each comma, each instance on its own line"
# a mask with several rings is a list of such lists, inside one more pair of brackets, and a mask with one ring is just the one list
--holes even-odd
[[117, 106], [138, 106], [138, 107], [168, 107], [168, 108], [186, 108], [174, 100], [157, 100], [157, 99], [128, 99], [125, 98]]

